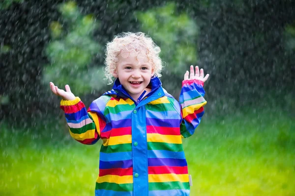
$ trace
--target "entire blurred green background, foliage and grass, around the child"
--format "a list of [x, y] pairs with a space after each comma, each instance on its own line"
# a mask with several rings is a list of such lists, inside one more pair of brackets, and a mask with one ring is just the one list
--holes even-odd
[[93, 195], [101, 142], [70, 138], [49, 82], [86, 106], [111, 89], [105, 45], [142, 31], [178, 98], [210, 73], [205, 116], [183, 140], [192, 196], [295, 196], [295, 1], [0, 1], [0, 195]]

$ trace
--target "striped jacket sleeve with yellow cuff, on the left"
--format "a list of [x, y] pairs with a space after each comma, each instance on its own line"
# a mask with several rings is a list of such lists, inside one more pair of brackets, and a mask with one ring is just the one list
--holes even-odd
[[[95, 105], [93, 102], [92, 107]], [[60, 101], [60, 108], [64, 111], [71, 137], [86, 145], [95, 144], [99, 140], [100, 130], [106, 124], [101, 118], [103, 114], [98, 110], [91, 110], [91, 105], [86, 110], [84, 103], [78, 97], [74, 100]]]

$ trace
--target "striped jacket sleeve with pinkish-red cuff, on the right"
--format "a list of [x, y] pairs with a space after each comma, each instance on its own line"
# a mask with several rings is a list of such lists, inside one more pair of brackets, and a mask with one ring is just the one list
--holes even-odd
[[187, 138], [194, 134], [204, 115], [204, 105], [207, 101], [204, 98], [204, 82], [201, 80], [182, 81], [181, 93], [179, 96], [182, 122], [180, 124], [180, 134]]

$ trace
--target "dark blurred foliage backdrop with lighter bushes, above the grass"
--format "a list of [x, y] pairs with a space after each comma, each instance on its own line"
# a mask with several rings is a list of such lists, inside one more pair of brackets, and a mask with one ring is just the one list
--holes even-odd
[[86, 105], [109, 90], [100, 86], [104, 45], [123, 31], [144, 31], [161, 47], [167, 63], [161, 81], [176, 98], [190, 64], [210, 73], [207, 114], [258, 104], [294, 108], [294, 0], [62, 2], [0, 2], [0, 96], [7, 97], [0, 103], [0, 119], [21, 126], [45, 123], [36, 119], [49, 114], [59, 120], [59, 98], [49, 96], [48, 81], [60, 88], [72, 82]]

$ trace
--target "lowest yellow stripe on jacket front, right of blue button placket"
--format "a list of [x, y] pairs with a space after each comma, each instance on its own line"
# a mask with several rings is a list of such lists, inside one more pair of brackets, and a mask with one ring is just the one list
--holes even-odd
[[148, 174], [148, 182], [188, 182], [188, 174]]

